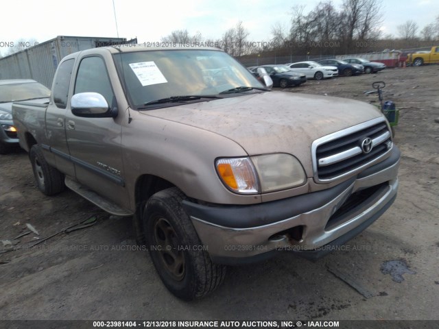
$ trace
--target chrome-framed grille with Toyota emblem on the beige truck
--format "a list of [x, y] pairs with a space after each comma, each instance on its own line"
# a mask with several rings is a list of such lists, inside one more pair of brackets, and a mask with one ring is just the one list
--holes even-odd
[[359, 171], [392, 148], [391, 134], [385, 121], [358, 128], [337, 132], [313, 143], [314, 170], [318, 181], [329, 182]]

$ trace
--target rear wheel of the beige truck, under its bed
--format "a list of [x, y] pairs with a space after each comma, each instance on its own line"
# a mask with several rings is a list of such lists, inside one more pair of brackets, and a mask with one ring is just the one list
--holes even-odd
[[34, 171], [36, 186], [41, 192], [45, 195], [54, 195], [64, 191], [64, 175], [46, 162], [43, 151], [38, 145], [32, 146], [29, 151], [29, 158]]

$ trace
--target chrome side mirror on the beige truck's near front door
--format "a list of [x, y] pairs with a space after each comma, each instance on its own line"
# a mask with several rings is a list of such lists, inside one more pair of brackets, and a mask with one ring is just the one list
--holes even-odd
[[117, 110], [112, 110], [104, 96], [99, 93], [79, 93], [71, 97], [71, 112], [78, 117], [106, 118], [116, 117]]

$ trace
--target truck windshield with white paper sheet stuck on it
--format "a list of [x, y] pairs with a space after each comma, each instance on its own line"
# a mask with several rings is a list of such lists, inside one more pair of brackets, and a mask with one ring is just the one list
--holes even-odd
[[146, 103], [169, 97], [219, 95], [237, 87], [244, 87], [237, 91], [265, 88], [252, 73], [223, 51], [158, 50], [114, 56], [134, 108], [143, 108]]

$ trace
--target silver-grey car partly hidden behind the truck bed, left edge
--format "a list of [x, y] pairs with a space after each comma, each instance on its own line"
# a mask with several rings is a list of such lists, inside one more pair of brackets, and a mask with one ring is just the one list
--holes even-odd
[[12, 123], [12, 102], [49, 97], [50, 90], [35, 80], [0, 80], [0, 154], [19, 145]]

